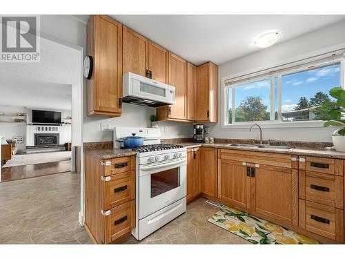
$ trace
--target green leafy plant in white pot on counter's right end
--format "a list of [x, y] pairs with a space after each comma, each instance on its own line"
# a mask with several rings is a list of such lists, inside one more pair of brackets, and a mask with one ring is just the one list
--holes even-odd
[[345, 90], [340, 87], [334, 87], [329, 90], [329, 94], [334, 97], [336, 102], [324, 102], [322, 106], [327, 106], [330, 120], [324, 123], [324, 127], [339, 127], [332, 134], [333, 146], [336, 151], [345, 152]]

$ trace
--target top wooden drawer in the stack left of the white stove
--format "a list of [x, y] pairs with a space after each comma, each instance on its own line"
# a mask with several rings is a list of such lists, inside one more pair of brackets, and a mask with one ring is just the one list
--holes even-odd
[[135, 156], [113, 158], [112, 160], [104, 160], [103, 162], [110, 162], [110, 166], [104, 166], [104, 175], [106, 176], [135, 170]]

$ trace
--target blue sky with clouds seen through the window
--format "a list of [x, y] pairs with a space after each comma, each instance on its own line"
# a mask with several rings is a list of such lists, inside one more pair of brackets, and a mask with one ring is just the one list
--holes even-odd
[[[334, 86], [340, 85], [340, 65], [326, 66], [282, 77], [282, 111], [292, 111], [299, 97], [310, 99], [315, 93], [328, 93]], [[263, 103], [270, 104], [269, 79], [237, 86], [235, 88], [235, 107], [248, 96], [262, 97]], [[230, 100], [231, 97], [229, 97]]]

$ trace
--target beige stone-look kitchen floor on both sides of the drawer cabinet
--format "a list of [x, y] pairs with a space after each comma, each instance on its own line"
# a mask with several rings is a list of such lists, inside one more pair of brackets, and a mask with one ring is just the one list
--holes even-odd
[[[78, 222], [79, 190], [76, 173], [0, 183], [0, 244], [92, 244]], [[218, 210], [199, 198], [141, 242], [124, 243], [250, 244], [207, 221]]]

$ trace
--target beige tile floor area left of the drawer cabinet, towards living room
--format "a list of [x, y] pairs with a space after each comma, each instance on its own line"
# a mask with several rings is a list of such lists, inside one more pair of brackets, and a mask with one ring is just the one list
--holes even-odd
[[91, 244], [78, 221], [80, 175], [0, 183], [0, 244]]

